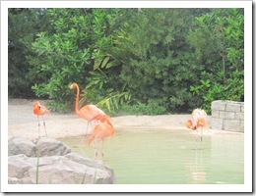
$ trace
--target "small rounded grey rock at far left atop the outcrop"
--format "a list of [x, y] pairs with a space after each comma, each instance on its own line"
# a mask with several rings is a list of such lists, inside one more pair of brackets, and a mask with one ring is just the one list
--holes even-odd
[[35, 144], [23, 136], [14, 136], [8, 141], [8, 155], [24, 154], [32, 157], [35, 154]]

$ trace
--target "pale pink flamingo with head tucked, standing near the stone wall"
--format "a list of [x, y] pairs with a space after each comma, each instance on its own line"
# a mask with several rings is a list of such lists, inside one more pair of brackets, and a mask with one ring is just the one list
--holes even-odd
[[198, 134], [198, 128], [201, 130], [201, 141], [203, 140], [203, 127], [206, 124], [207, 114], [204, 110], [195, 109], [192, 112], [192, 120], [188, 120], [186, 126], [192, 130], [196, 130]]

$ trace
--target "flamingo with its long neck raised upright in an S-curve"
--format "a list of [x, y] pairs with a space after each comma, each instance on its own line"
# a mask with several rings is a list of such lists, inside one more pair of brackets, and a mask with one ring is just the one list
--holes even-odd
[[80, 90], [79, 86], [77, 83], [73, 83], [69, 86], [69, 89], [77, 88], [77, 98], [76, 98], [76, 104], [75, 104], [75, 112], [76, 114], [86, 120], [88, 122], [87, 124], [87, 130], [86, 130], [86, 135], [88, 135], [88, 126], [89, 123], [91, 123], [94, 120], [100, 120], [102, 116], [105, 115], [103, 111], [98, 109], [95, 105], [86, 105], [83, 108], [79, 109], [78, 108], [78, 103], [79, 103], [79, 95], [80, 95]]

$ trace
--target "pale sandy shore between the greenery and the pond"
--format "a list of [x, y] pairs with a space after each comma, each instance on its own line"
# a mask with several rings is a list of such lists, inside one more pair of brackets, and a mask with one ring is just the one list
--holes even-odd
[[[37, 137], [37, 117], [32, 113], [32, 103], [34, 101], [26, 99], [8, 100], [9, 138], [15, 135], [24, 135], [32, 139]], [[40, 102], [45, 104], [45, 101]], [[139, 127], [189, 131], [185, 127], [185, 123], [190, 118], [191, 115], [122, 116], [114, 117], [113, 122], [117, 131], [118, 129], [127, 129], [127, 127], [130, 129], [131, 127]], [[51, 113], [50, 115], [45, 115], [44, 120], [47, 134], [52, 138], [83, 135], [87, 128], [87, 122], [79, 118], [75, 113], [69, 115]], [[211, 117], [208, 116], [204, 134], [226, 133], [224, 130], [210, 129], [210, 122]], [[42, 123], [40, 133], [44, 136]], [[234, 132], [228, 133], [233, 134]]]

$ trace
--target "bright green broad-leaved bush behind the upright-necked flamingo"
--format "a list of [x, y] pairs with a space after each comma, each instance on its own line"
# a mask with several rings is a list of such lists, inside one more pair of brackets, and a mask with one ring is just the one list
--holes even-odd
[[32, 89], [37, 96], [47, 95], [51, 99], [48, 102], [51, 110], [71, 110], [75, 99], [68, 86], [72, 82], [86, 86], [89, 73], [109, 56], [111, 36], [106, 26], [113, 23], [115, 13], [108, 12], [105, 9], [47, 10], [55, 32], [38, 33], [32, 49], [42, 59], [35, 72], [49, 78], [34, 84]]

